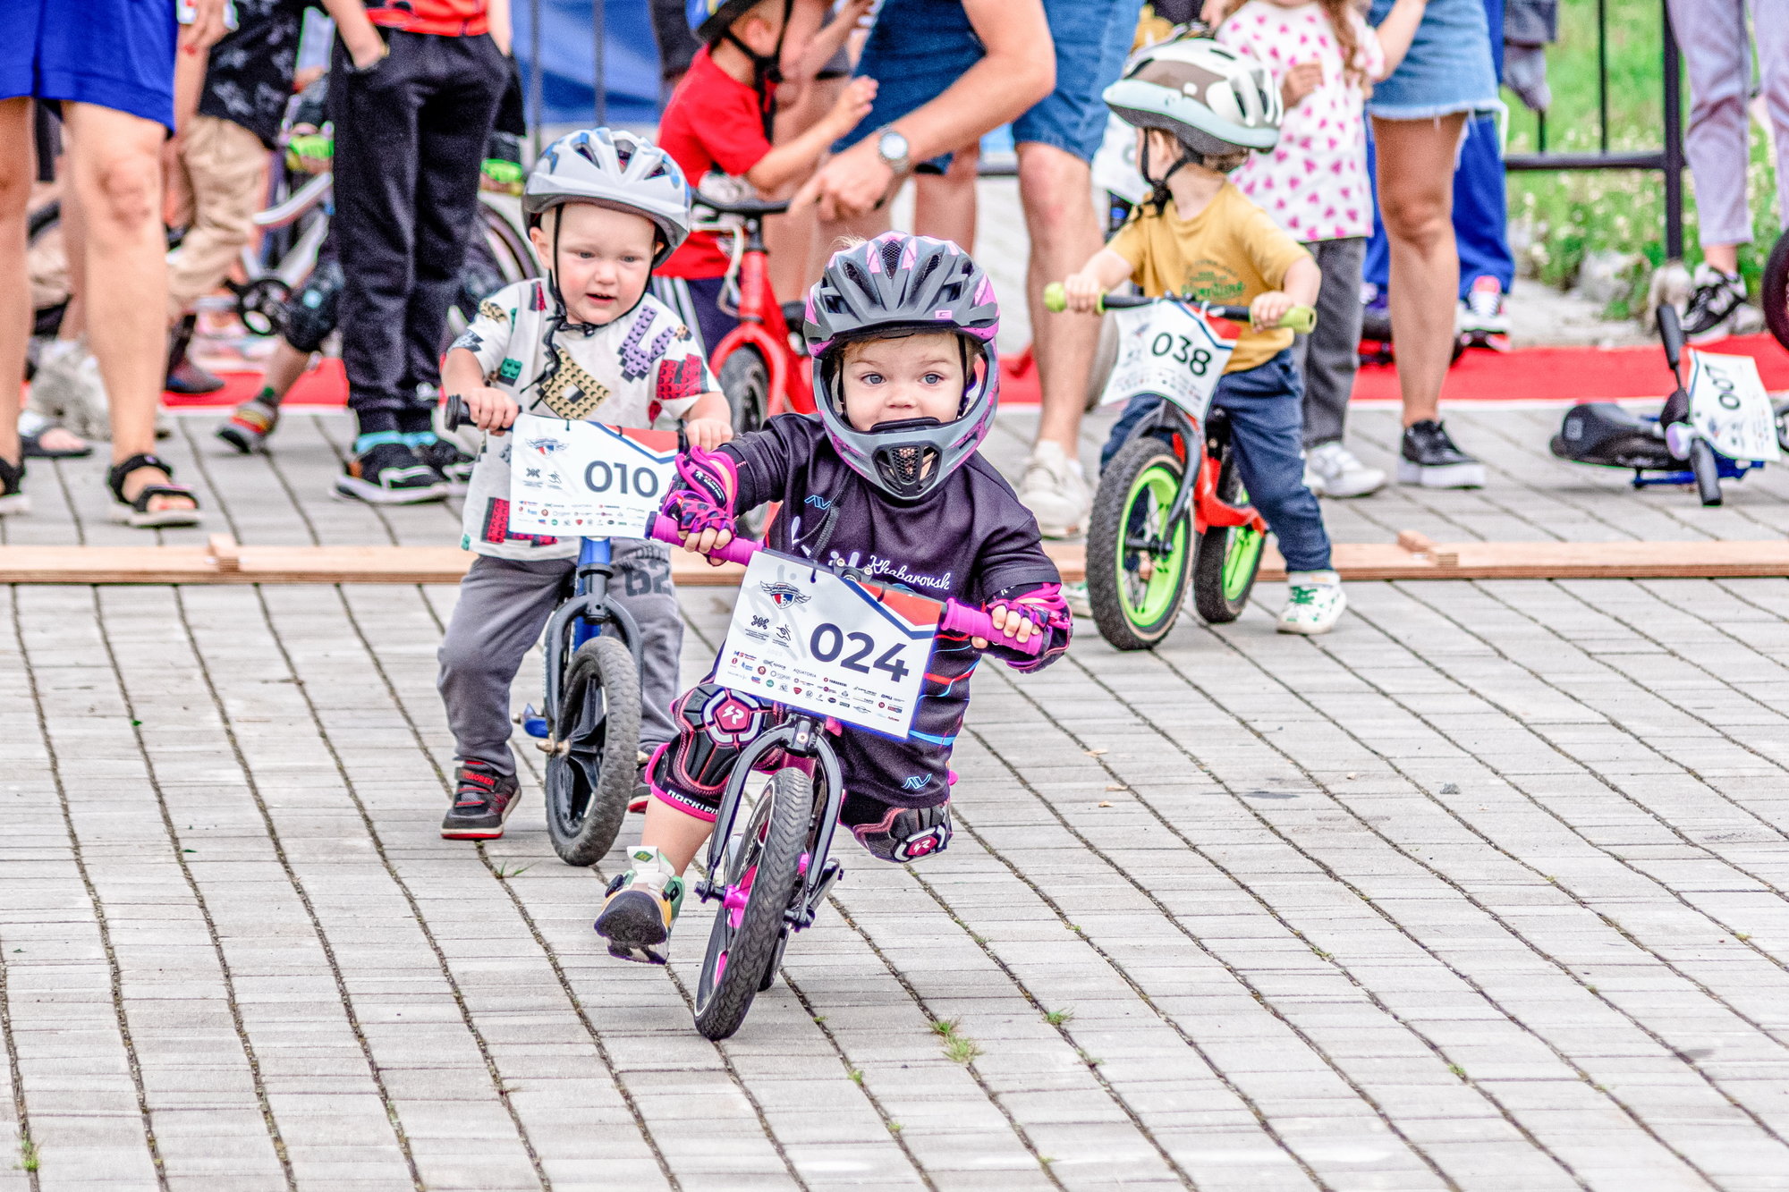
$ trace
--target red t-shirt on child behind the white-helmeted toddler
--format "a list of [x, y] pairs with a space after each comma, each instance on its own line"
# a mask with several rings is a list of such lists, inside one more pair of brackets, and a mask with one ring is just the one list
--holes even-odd
[[[698, 50], [658, 120], [658, 149], [671, 154], [691, 186], [699, 186], [708, 170], [744, 175], [771, 150], [759, 93], [716, 66], [708, 50]], [[723, 277], [730, 261], [732, 254], [721, 251], [719, 236], [694, 233], [658, 272], [666, 277]]]

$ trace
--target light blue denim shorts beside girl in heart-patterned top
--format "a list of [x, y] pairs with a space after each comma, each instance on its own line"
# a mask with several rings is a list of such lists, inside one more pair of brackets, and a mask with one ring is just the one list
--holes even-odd
[[[1378, 25], [1390, 11], [1392, 0], [1372, 0], [1367, 23]], [[1483, 0], [1429, 0], [1404, 61], [1367, 100], [1367, 115], [1379, 120], [1433, 120], [1456, 111], [1505, 111]]]

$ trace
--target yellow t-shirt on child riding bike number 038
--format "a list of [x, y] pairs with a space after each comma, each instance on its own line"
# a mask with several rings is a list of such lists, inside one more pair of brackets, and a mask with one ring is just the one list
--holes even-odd
[[[1138, 208], [1106, 247], [1131, 261], [1131, 279], [1150, 297], [1172, 292], [1225, 306], [1247, 306], [1277, 290], [1286, 270], [1311, 256], [1231, 183], [1190, 220], [1172, 202], [1161, 215]], [[1224, 370], [1259, 367], [1288, 347], [1292, 331], [1245, 326]]]

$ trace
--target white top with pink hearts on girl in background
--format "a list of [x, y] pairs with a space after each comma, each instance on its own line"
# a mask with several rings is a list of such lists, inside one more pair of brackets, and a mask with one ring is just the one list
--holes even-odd
[[[1379, 38], [1352, 9], [1349, 20], [1360, 47], [1354, 66], [1376, 79], [1385, 73]], [[1365, 97], [1342, 77], [1342, 47], [1322, 7], [1249, 0], [1218, 29], [1218, 41], [1265, 64], [1276, 79], [1313, 57], [1324, 66], [1322, 86], [1286, 111], [1279, 145], [1270, 154], [1251, 154], [1231, 181], [1301, 242], [1370, 236]]]

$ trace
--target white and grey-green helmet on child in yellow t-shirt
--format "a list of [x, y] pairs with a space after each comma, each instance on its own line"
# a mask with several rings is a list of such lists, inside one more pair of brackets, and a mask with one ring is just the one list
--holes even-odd
[[1170, 132], [1197, 154], [1267, 152], [1279, 143], [1274, 72], [1209, 38], [1138, 50], [1104, 100], [1125, 123]]

